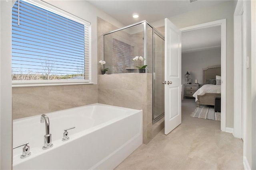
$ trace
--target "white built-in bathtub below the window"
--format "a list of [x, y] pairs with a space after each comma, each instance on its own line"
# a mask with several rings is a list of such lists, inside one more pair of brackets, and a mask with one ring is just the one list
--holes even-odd
[[[31, 155], [13, 149], [13, 169], [113, 169], [142, 144], [142, 110], [92, 104], [47, 113], [53, 147], [44, 145], [41, 115], [13, 121], [13, 146], [29, 142]], [[68, 141], [62, 141], [64, 129]]]

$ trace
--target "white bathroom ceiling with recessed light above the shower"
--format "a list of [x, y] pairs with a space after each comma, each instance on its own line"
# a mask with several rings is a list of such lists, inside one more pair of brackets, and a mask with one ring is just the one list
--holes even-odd
[[[124, 25], [147, 20], [149, 23], [192, 10], [216, 5], [224, 0], [87, 0]], [[136, 13], [139, 18], [132, 18]]]

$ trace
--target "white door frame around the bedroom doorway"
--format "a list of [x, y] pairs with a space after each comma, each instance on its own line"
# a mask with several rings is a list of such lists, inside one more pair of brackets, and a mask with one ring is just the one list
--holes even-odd
[[181, 28], [181, 32], [220, 25], [221, 30], [221, 123], [220, 129], [224, 132], [233, 133], [231, 128], [226, 128], [226, 19], [206, 22], [190, 27]]

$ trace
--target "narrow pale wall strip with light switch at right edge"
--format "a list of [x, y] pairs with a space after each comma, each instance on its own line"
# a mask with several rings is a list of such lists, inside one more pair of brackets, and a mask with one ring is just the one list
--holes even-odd
[[[249, 68], [246, 69], [246, 117], [244, 133], [244, 157], [251, 169], [255, 167], [255, 101], [256, 101], [256, 69], [255, 69], [255, 2], [244, 0], [245, 24], [245, 56], [248, 57]], [[252, 37], [253, 36], [253, 37]], [[253, 119], [254, 118], [254, 119]], [[254, 156], [253, 156], [254, 155]]]

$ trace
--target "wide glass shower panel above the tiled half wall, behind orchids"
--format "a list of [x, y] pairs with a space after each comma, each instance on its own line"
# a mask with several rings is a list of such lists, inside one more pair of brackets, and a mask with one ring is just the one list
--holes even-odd
[[104, 35], [104, 60], [108, 74], [138, 72], [136, 66], [144, 62], [132, 61], [135, 56], [144, 57], [144, 24], [128, 27]]

